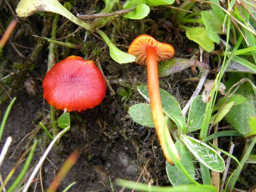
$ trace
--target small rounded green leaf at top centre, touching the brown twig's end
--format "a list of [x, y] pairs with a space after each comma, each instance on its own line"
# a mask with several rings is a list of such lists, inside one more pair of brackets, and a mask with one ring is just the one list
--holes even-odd
[[142, 3], [138, 4], [132, 12], [125, 14], [124, 17], [128, 19], [143, 19], [148, 16], [149, 12], [149, 6]]

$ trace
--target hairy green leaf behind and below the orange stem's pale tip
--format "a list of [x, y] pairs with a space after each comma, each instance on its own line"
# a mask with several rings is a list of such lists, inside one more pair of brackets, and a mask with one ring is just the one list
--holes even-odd
[[[184, 166], [184, 168], [186, 168], [187, 172], [194, 179], [195, 170], [194, 170], [194, 164], [193, 164], [193, 160], [191, 158], [190, 152], [181, 141], [176, 142], [175, 146], [180, 154], [180, 161], [182, 165]], [[190, 179], [188, 179], [184, 174], [182, 174], [182, 172], [180, 172], [180, 170], [176, 167], [176, 165], [172, 166], [167, 161], [166, 161], [166, 173], [172, 186], [192, 184]]]

